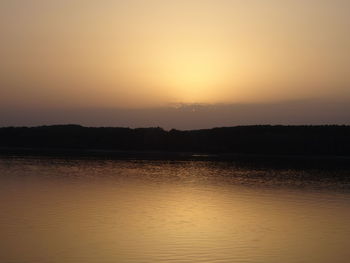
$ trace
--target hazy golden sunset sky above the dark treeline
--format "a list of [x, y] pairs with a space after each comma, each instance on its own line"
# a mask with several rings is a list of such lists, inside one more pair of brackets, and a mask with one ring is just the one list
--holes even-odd
[[350, 124], [349, 12], [346, 0], [0, 0], [0, 126]]

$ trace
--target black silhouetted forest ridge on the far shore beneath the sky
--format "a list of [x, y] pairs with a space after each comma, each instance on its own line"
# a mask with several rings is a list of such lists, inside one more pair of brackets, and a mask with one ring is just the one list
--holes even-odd
[[198, 153], [350, 156], [350, 126], [237, 126], [206, 130], [0, 128], [3, 149], [98, 149]]

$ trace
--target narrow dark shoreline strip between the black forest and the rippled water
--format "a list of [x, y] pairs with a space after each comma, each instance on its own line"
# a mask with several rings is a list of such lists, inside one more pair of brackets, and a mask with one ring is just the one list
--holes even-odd
[[336, 155], [288, 155], [288, 154], [246, 154], [206, 153], [173, 151], [123, 151], [108, 149], [74, 148], [21, 148], [0, 147], [0, 158], [42, 157], [69, 159], [110, 159], [149, 161], [210, 161], [234, 162], [251, 166], [349, 168], [350, 156]]

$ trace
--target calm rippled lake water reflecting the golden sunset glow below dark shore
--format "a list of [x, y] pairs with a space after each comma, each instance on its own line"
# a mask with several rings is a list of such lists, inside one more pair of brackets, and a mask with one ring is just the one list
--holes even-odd
[[6, 263], [350, 258], [346, 172], [11, 158], [0, 200]]

